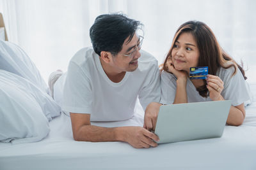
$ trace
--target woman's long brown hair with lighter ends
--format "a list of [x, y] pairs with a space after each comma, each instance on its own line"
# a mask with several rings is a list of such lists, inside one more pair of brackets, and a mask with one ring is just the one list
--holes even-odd
[[[199, 21], [189, 21], [180, 25], [173, 38], [172, 46], [166, 56], [166, 59], [164, 60], [164, 71], [168, 71], [168, 67], [166, 67], [166, 62], [169, 58], [172, 58], [173, 46], [179, 38], [180, 34], [182, 34], [182, 32], [190, 32], [195, 38], [200, 53], [198, 59], [198, 67], [208, 66], [208, 72], [212, 75], [216, 75], [220, 67], [223, 67], [225, 69], [229, 67], [234, 67], [235, 71], [232, 76], [236, 74], [238, 67], [244, 76], [244, 80], [247, 79], [243, 68], [239, 66], [236, 61], [232, 59], [232, 57], [224, 52], [211, 29], [206, 24]], [[196, 90], [202, 97], [207, 97], [209, 94], [206, 85], [206, 80], [204, 80], [204, 85], [202, 85], [202, 87], [196, 88]]]

